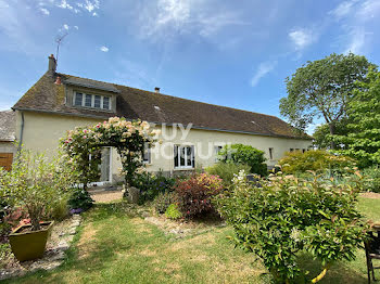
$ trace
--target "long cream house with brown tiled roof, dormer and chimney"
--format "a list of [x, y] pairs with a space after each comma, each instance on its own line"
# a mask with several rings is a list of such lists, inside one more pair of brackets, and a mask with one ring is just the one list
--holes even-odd
[[[49, 56], [48, 72], [13, 106], [16, 139], [26, 149], [56, 153], [67, 130], [110, 117], [147, 120], [162, 130], [163, 144], [144, 153], [148, 171], [176, 173], [213, 165], [217, 152], [229, 143], [243, 143], [266, 153], [276, 165], [286, 151], [307, 150], [312, 138], [283, 120], [219, 105], [144, 91], [56, 73]], [[121, 162], [104, 149], [102, 181], [118, 178]]]

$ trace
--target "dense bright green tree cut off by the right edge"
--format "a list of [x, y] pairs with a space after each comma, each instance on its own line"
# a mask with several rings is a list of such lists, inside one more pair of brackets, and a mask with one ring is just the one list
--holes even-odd
[[359, 162], [360, 167], [380, 164], [380, 73], [370, 70], [368, 82], [358, 83], [356, 100], [350, 103], [347, 115], [352, 124], [347, 134], [334, 138], [346, 144], [341, 152]]

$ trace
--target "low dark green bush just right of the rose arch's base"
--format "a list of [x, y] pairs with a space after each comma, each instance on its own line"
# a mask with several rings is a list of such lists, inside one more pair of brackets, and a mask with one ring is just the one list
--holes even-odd
[[140, 190], [140, 203], [153, 201], [161, 192], [173, 191], [175, 179], [166, 178], [162, 172], [135, 175], [131, 185]]

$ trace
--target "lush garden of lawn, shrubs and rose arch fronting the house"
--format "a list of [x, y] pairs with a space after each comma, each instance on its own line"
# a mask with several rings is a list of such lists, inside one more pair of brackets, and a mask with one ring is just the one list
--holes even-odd
[[[326, 149], [288, 152], [271, 170], [264, 152], [233, 144], [190, 176], [148, 172], [142, 153], [159, 133], [118, 117], [68, 131], [56, 158], [21, 151], [0, 170], [0, 280], [367, 283], [364, 244], [380, 227], [379, 86], [370, 70], [355, 89], [349, 134], [331, 131]], [[119, 154], [126, 193], [93, 204], [104, 146]]]

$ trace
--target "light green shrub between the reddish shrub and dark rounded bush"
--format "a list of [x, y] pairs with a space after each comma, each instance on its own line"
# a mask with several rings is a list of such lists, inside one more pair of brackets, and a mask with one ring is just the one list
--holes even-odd
[[240, 170], [250, 172], [251, 167], [245, 164], [233, 163], [216, 163], [215, 165], [205, 169], [207, 173], [218, 176], [223, 179], [223, 184], [229, 186], [232, 183], [233, 175], [238, 175]]

